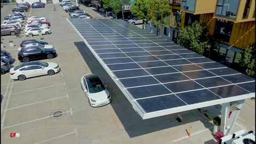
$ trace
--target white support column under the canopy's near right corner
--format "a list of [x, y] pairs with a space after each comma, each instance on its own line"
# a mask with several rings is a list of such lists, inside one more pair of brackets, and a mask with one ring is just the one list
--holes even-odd
[[[243, 107], [244, 101], [245, 100], [239, 100], [222, 103], [220, 131], [223, 133], [223, 135], [229, 134], [230, 130], [234, 127], [240, 110]], [[232, 113], [228, 118], [230, 111], [232, 111]]]

